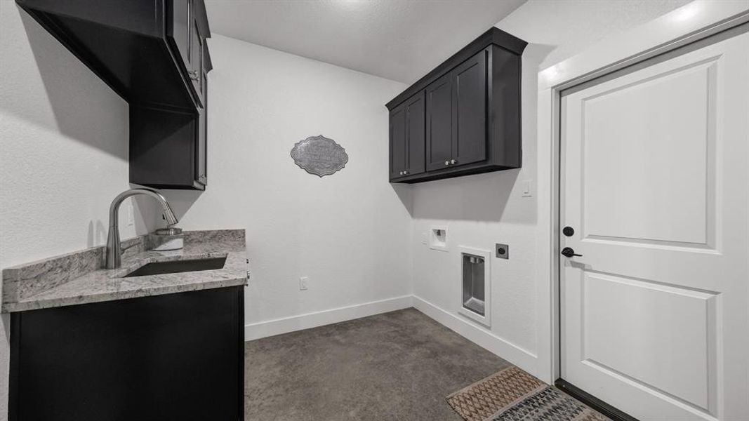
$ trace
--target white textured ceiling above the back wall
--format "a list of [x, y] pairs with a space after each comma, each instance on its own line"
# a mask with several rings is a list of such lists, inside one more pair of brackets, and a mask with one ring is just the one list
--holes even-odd
[[206, 0], [210, 29], [414, 82], [525, 0]]

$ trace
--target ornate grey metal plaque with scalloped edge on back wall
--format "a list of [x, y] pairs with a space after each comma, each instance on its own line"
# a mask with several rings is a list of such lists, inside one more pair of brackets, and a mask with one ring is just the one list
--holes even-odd
[[322, 135], [297, 142], [291, 149], [291, 157], [304, 171], [320, 178], [337, 172], [348, 163], [346, 150], [335, 140]]

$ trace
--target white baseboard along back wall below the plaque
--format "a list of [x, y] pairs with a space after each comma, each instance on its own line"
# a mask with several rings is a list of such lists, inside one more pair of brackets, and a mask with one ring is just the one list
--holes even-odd
[[267, 336], [294, 332], [295, 330], [309, 329], [311, 327], [339, 323], [340, 321], [354, 320], [355, 318], [363, 318], [380, 313], [407, 309], [413, 306], [412, 298], [412, 295], [404, 295], [402, 297], [373, 301], [371, 303], [363, 303], [354, 306], [340, 307], [338, 309], [323, 310], [321, 312], [306, 313], [288, 318], [277, 318], [275, 320], [245, 324], [244, 340], [252, 341]]

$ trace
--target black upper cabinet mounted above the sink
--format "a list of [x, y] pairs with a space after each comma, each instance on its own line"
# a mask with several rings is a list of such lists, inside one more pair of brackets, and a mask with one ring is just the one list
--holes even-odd
[[130, 103], [130, 182], [203, 190], [212, 68], [203, 0], [16, 2]]

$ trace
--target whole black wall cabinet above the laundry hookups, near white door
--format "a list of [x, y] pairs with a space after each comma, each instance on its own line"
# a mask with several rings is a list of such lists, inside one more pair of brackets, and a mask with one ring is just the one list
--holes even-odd
[[[387, 103], [392, 126], [393, 111], [422, 94], [425, 102], [425, 171], [394, 176], [391, 165], [391, 181], [521, 167], [520, 70], [526, 45], [491, 28]], [[415, 145], [408, 149], [410, 156], [419, 152]]]

